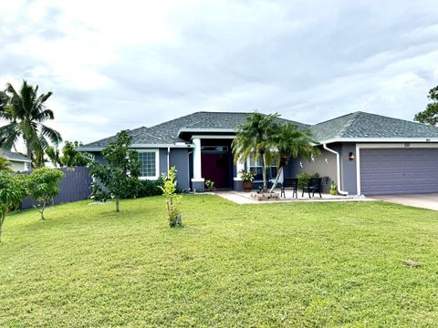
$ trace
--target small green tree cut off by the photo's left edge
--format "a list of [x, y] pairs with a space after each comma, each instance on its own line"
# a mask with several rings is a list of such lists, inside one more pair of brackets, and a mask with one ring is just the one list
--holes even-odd
[[26, 177], [0, 172], [0, 241], [3, 223], [9, 210], [14, 209], [27, 196]]

